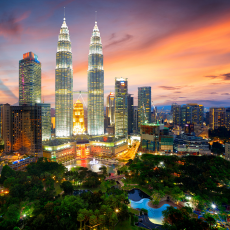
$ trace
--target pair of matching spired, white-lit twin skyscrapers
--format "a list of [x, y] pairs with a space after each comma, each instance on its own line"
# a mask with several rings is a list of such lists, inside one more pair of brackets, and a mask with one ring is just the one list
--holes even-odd
[[[65, 18], [58, 37], [55, 70], [55, 135], [73, 134], [73, 65]], [[95, 22], [88, 55], [88, 133], [104, 134], [104, 69], [100, 32]]]

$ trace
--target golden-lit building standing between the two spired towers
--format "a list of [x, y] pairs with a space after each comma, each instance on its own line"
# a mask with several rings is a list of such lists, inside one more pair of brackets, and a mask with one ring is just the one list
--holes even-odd
[[84, 108], [83, 104], [79, 100], [77, 100], [73, 107], [73, 134], [83, 134], [84, 132]]

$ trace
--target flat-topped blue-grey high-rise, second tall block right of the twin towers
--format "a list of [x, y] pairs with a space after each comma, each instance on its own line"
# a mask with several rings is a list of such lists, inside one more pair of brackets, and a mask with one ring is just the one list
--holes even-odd
[[141, 124], [151, 122], [151, 87], [138, 87], [138, 130]]

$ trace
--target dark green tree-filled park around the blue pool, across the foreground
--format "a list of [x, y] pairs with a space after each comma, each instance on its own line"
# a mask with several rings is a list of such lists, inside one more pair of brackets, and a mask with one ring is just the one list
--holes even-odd
[[0, 197], [0, 229], [136, 230], [139, 219], [142, 227], [156, 226], [156, 216], [164, 229], [217, 229], [218, 218], [227, 221], [230, 163], [220, 157], [143, 154], [117, 168], [123, 187], [105, 180], [106, 167], [100, 171], [66, 171], [42, 158], [23, 172], [4, 166], [1, 184], [9, 194]]

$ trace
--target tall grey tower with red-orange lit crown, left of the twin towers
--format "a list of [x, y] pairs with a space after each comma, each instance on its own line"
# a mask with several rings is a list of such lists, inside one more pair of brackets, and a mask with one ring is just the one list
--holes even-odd
[[41, 103], [41, 63], [33, 52], [19, 61], [19, 105]]

